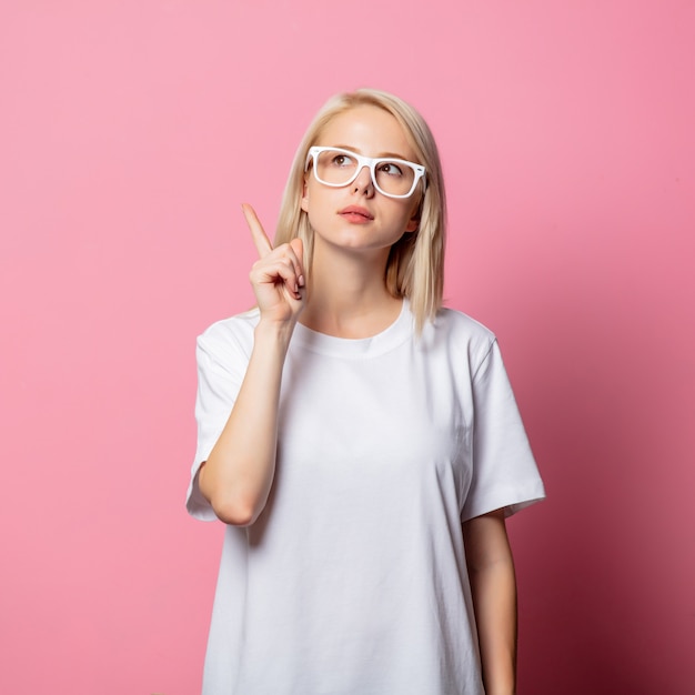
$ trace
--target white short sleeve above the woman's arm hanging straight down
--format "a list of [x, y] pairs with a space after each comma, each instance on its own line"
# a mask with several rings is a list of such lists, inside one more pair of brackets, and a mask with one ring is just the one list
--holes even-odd
[[545, 497], [496, 340], [473, 375], [472, 447], [462, 521], [500, 508], [510, 516]]

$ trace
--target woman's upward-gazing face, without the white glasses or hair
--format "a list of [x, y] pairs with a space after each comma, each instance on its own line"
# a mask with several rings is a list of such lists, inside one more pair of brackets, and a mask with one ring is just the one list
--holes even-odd
[[[372, 105], [355, 107], [334, 117], [315, 144], [416, 162], [401, 124], [389, 112]], [[304, 178], [302, 210], [314, 230], [314, 248], [326, 243], [387, 251], [404, 233], [417, 229], [415, 215], [421, 195], [421, 184], [405, 199], [380, 193], [367, 167], [352, 183], [340, 188], [320, 183], [310, 168]]]

